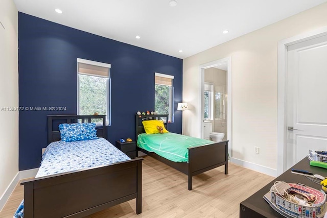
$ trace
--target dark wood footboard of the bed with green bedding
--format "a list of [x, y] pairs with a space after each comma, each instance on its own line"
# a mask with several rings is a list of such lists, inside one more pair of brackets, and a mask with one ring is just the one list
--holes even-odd
[[193, 176], [222, 165], [228, 174], [228, 141], [189, 148], [189, 190], [192, 190]]

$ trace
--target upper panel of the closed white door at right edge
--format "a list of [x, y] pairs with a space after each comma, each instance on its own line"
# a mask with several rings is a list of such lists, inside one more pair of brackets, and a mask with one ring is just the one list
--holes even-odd
[[327, 124], [327, 45], [298, 52], [298, 123]]

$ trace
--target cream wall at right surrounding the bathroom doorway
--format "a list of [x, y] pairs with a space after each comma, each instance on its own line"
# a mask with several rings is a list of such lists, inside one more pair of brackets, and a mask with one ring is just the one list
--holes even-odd
[[[231, 57], [231, 156], [267, 171], [277, 168], [277, 43], [327, 26], [327, 3], [183, 60], [187, 135], [200, 137], [199, 65]], [[254, 154], [254, 147], [260, 154]], [[233, 160], [232, 159], [232, 160]]]

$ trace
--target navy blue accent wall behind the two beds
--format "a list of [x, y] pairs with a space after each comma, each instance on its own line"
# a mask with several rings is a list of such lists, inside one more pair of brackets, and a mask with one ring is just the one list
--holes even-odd
[[[134, 36], [130, 36], [134, 37]], [[111, 126], [107, 139], [135, 139], [135, 113], [154, 111], [154, 73], [173, 75], [174, 123], [181, 133], [182, 59], [18, 13], [19, 106], [65, 111], [19, 112], [19, 170], [39, 167], [47, 146], [46, 115], [76, 114], [77, 58], [111, 64]], [[141, 39], [142, 40], [142, 39]], [[165, 43], [165, 42], [162, 42]]]

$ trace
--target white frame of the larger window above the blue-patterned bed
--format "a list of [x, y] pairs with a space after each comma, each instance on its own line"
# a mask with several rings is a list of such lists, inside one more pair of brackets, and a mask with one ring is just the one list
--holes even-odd
[[[94, 75], [94, 74], [86, 74], [85, 72], [81, 73], [78, 70], [78, 63], [84, 63], [84, 64], [89, 64], [89, 65], [94, 65], [94, 66], [101, 66], [101, 67], [106, 67], [108, 68], [109, 72], [108, 72], [108, 76], [100, 76], [100, 75]], [[86, 59], [82, 59], [82, 58], [77, 58], [77, 114], [80, 114], [79, 111], [79, 90], [80, 90], [80, 78], [79, 75], [87, 75], [87, 76], [95, 76], [95, 77], [104, 77], [107, 78], [106, 80], [106, 125], [110, 126], [111, 124], [111, 92], [110, 92], [110, 87], [111, 87], [111, 80], [110, 80], [110, 68], [111, 68], [111, 64], [107, 64], [107, 63], [102, 63], [102, 62], [97, 62], [97, 61], [91, 61], [91, 60], [86, 60]], [[91, 114], [90, 114], [91, 115]], [[100, 114], [102, 115], [102, 114]], [[101, 123], [102, 125], [102, 123]]]

